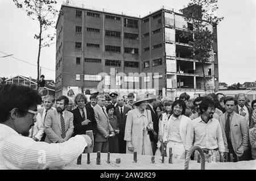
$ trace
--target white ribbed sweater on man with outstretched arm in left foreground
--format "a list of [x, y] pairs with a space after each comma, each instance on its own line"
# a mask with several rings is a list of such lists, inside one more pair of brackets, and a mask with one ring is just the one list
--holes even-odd
[[61, 144], [48, 144], [20, 136], [14, 129], [0, 124], [0, 169], [61, 168], [79, 157], [86, 146], [81, 135]]

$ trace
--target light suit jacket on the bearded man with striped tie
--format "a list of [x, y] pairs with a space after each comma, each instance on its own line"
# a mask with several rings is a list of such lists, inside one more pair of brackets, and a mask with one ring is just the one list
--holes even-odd
[[[73, 113], [65, 111], [64, 113], [65, 121], [65, 131], [66, 136], [64, 137], [65, 141], [68, 141], [73, 134]], [[61, 140], [61, 122], [60, 114], [57, 110], [50, 110], [47, 112], [46, 120], [44, 122], [44, 131], [46, 132], [46, 142], [55, 143]]]

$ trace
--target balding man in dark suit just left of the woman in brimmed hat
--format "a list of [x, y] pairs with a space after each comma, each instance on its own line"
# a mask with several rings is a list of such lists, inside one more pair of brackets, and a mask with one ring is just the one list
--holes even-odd
[[125, 124], [127, 112], [131, 109], [129, 107], [124, 106], [125, 102], [122, 96], [117, 97], [117, 107], [115, 107], [114, 115], [117, 116], [117, 122], [119, 126], [119, 136], [118, 136], [118, 144], [119, 144], [119, 153], [126, 153], [126, 141], [125, 137]]

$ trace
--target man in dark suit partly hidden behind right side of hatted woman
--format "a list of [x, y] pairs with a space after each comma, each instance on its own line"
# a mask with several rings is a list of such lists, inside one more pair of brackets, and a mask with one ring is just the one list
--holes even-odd
[[151, 118], [152, 118], [154, 130], [149, 132], [149, 134], [150, 134], [150, 141], [151, 141], [153, 155], [155, 155], [156, 143], [158, 142], [158, 131], [159, 131], [158, 113], [155, 110], [157, 96], [153, 94], [148, 94], [148, 98], [150, 98], [150, 100], [148, 100], [148, 105], [146, 110], [150, 110], [151, 112]]

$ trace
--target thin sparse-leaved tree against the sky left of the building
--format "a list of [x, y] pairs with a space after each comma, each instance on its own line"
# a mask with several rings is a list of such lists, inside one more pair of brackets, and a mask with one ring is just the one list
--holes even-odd
[[[39, 62], [40, 53], [43, 47], [49, 47], [53, 44], [55, 33], [51, 30], [55, 30], [57, 10], [54, 5], [57, 3], [52, 0], [13, 0], [18, 9], [26, 11], [27, 16], [32, 20], [36, 20], [39, 23], [39, 33], [34, 35], [34, 38], [39, 41], [38, 45], [38, 77], [39, 80]], [[38, 90], [39, 87], [37, 87]]]

